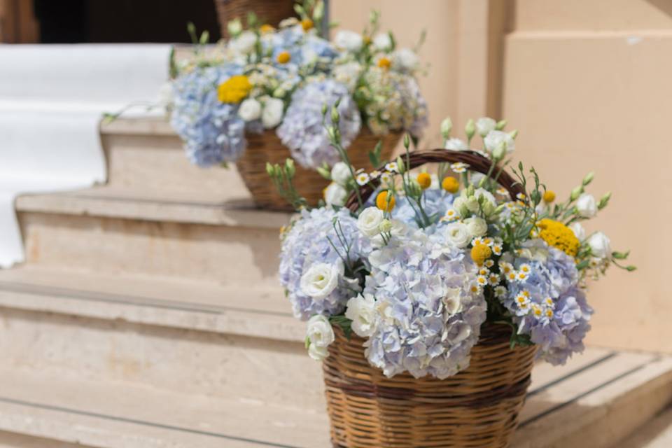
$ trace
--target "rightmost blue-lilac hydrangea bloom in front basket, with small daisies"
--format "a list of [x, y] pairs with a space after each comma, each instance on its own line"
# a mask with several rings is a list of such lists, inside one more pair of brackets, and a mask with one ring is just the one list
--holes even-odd
[[[507, 282], [504, 304], [515, 315], [518, 332], [538, 344], [538, 356], [563, 364], [583, 350], [593, 310], [577, 286], [579, 274], [572, 257], [540, 239], [527, 241], [523, 254], [513, 260], [514, 268], [526, 265], [531, 272], [522, 281]], [[528, 302], [522, 309], [517, 297], [524, 293]]]

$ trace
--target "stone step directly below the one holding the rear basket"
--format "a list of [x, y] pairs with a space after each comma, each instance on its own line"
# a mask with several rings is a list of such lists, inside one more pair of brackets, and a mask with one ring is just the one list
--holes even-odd
[[17, 372], [324, 407], [304, 323], [277, 287], [23, 267], [0, 272], [0, 309]]

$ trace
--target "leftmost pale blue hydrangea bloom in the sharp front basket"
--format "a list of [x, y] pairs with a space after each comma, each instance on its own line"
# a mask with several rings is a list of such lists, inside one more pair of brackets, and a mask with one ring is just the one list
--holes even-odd
[[[335, 219], [339, 232], [342, 232], [341, 239], [349, 245], [347, 255], [334, 228]], [[324, 207], [303, 210], [301, 218], [284, 236], [280, 254], [280, 283], [286, 288], [294, 315], [307, 320], [314, 314], [330, 316], [342, 312], [348, 299], [357, 295], [360, 289], [356, 280], [340, 276], [338, 287], [328, 297], [315, 300], [302, 291], [301, 277], [317, 263], [335, 265], [343, 258], [355, 262], [363, 258], [363, 253], [370, 251], [370, 248], [367, 249], [369, 246], [357, 229], [356, 219], [347, 209], [334, 211], [331, 207]]]

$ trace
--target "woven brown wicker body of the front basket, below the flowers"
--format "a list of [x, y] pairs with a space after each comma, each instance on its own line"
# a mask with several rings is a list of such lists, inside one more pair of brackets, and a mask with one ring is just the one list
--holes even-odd
[[339, 327], [323, 372], [334, 447], [507, 447], [518, 424], [535, 346], [510, 349], [511, 330], [483, 325], [467, 369], [447, 379], [386, 378], [364, 339]]

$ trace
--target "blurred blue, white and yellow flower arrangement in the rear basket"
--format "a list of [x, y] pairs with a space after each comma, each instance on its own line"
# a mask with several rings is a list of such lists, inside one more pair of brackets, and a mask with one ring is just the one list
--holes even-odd
[[246, 28], [233, 20], [229, 41], [214, 49], [197, 45], [196, 57], [176, 66], [171, 123], [193, 163], [235, 162], [246, 132], [275, 129], [300, 165], [330, 167], [338, 155], [324, 127], [325, 105], [337, 106], [344, 148], [363, 125], [376, 135], [405, 130], [420, 137], [427, 107], [416, 83], [416, 51], [379, 32], [378, 13], [363, 33], [337, 31], [328, 41], [315, 26], [323, 19], [321, 0], [296, 10], [300, 19], [283, 20], [278, 29], [253, 14]]

